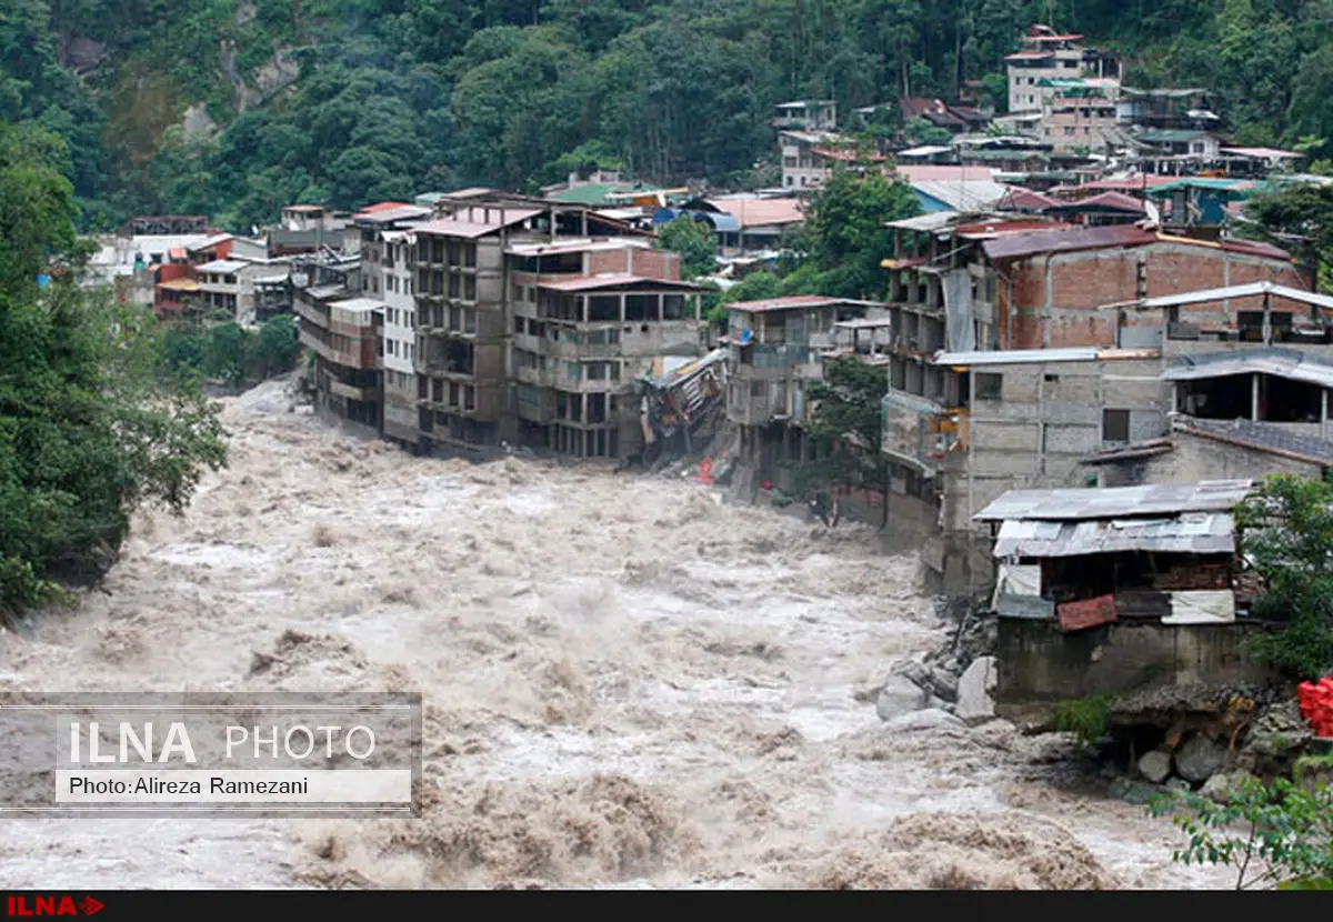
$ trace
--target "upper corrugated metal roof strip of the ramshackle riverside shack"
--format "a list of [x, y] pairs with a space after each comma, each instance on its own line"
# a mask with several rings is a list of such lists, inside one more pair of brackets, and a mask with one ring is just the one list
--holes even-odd
[[973, 521], [1082, 521], [1185, 512], [1230, 512], [1254, 488], [1252, 480], [1153, 484], [1109, 489], [1009, 490]]

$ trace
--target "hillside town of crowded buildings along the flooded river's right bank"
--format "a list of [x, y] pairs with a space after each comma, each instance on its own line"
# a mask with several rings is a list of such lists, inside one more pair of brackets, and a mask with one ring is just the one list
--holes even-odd
[[[1246, 233], [1246, 203], [1333, 177], [1237, 144], [1206, 89], [1124, 85], [1084, 36], [1033, 25], [1005, 65], [1002, 113], [977, 84], [782, 103], [773, 188], [592, 169], [536, 195], [292, 204], [251, 234], [145, 216], [96, 240], [89, 282], [168, 322], [291, 316], [315, 413], [405, 454], [697, 478], [880, 526], [992, 630], [890, 678], [884, 719], [946, 706], [1049, 730], [1061, 702], [1118, 695], [1126, 725], [1160, 725], [1130, 750], [1141, 777], [1221, 790], [1218, 709], [1161, 695], [1264, 685], [1241, 656], [1266, 626], [1233, 509], [1270, 474], [1333, 469], [1333, 296], [1301, 241]], [[878, 290], [718, 300], [781, 262], [838, 171], [918, 205], [882, 223]], [[681, 221], [706, 228], [710, 272], [661, 245]], [[806, 506], [804, 466], [828, 450], [812, 428], [849, 360], [881, 381], [880, 444], [838, 450], [886, 486]]]

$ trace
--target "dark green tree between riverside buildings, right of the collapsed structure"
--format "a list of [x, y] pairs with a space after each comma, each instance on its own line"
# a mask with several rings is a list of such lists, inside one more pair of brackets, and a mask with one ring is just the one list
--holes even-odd
[[854, 357], [825, 362], [824, 378], [806, 389], [813, 404], [808, 432], [820, 457], [804, 462], [797, 472], [806, 493], [817, 494], [822, 484], [882, 492], [881, 528], [888, 524], [889, 512], [889, 466], [880, 452], [881, 401], [888, 389], [881, 366]]

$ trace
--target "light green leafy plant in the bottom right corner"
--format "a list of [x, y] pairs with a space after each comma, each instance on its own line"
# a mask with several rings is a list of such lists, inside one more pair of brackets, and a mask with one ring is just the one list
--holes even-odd
[[1182, 865], [1226, 865], [1236, 889], [1333, 889], [1333, 791], [1306, 791], [1289, 781], [1264, 785], [1242, 778], [1228, 802], [1173, 793], [1149, 805], [1172, 821], [1189, 843], [1172, 853]]

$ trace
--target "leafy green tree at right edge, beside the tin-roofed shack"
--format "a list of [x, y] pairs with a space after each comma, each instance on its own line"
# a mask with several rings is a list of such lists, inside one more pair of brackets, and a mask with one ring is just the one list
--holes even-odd
[[1236, 525], [1262, 585], [1256, 613], [1285, 625], [1252, 650], [1297, 680], [1333, 670], [1333, 484], [1269, 477], [1236, 508]]

